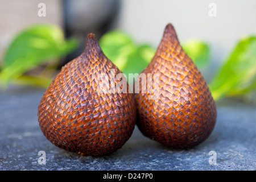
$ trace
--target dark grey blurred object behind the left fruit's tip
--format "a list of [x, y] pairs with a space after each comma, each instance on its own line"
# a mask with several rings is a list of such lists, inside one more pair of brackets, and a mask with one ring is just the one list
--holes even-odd
[[65, 35], [79, 39], [80, 46], [61, 61], [60, 67], [82, 53], [89, 33], [99, 39], [111, 29], [119, 7], [118, 0], [63, 0]]

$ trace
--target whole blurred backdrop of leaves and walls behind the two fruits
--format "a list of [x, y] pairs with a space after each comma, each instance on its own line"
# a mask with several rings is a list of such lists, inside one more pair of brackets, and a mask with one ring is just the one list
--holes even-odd
[[[0, 1], [0, 86], [2, 90], [10, 84], [46, 88], [65, 63], [81, 54], [90, 32], [96, 34], [106, 56], [123, 72], [139, 73], [154, 55], [164, 27], [172, 23], [185, 51], [191, 52], [189, 56], [194, 61], [198, 60], [205, 80], [212, 92], [216, 92], [216, 100], [225, 96], [246, 96], [245, 100], [251, 101], [256, 88], [255, 9], [254, 0]], [[59, 29], [55, 27], [57, 33], [53, 34], [52, 27], [47, 27], [44, 31], [48, 31], [47, 36], [38, 34], [36, 31], [40, 32], [42, 27], [35, 26], [44, 24], [52, 24]], [[31, 36], [34, 38], [39, 38], [39, 35], [52, 38], [57, 34], [63, 34], [63, 38], [54, 37], [56, 51], [47, 55], [46, 51], [40, 52], [40, 41], [35, 43], [37, 47], [31, 48], [31, 44], [22, 49], [22, 45], [31, 38], [27, 32], [24, 36], [24, 31], [33, 32]], [[115, 39], [123, 40], [123, 44], [113, 43]], [[131, 43], [137, 50], [131, 57], [127, 53], [129, 51], [111, 50], [111, 46], [122, 47]], [[61, 46], [61, 50], [57, 49]], [[26, 56], [36, 52], [33, 51], [35, 48], [38, 54], [30, 58], [34, 62], [27, 65]], [[53, 50], [52, 47], [49, 49]], [[199, 53], [193, 55], [195, 52]], [[129, 58], [117, 59], [123, 55], [129, 55]], [[140, 59], [144, 62], [134, 69], [133, 60]], [[138, 61], [136, 63], [139, 64]], [[241, 64], [247, 67], [243, 68]], [[241, 73], [237, 74], [240, 68]], [[230, 85], [224, 86], [228, 82]]]

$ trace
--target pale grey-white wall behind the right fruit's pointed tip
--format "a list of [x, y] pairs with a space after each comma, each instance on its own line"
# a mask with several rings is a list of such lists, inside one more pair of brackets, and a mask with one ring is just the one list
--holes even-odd
[[[210, 3], [216, 4], [216, 17], [209, 16]], [[174, 25], [180, 42], [199, 38], [209, 43], [212, 66], [203, 71], [209, 80], [240, 38], [256, 35], [256, 1], [123, 0], [115, 27], [157, 47], [167, 23]]]

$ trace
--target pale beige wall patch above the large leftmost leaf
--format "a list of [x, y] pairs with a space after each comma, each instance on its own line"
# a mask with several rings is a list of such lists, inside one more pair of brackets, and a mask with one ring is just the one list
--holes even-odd
[[[46, 4], [46, 16], [39, 17], [38, 4]], [[63, 25], [60, 0], [8, 0], [0, 1], [0, 57], [14, 36], [23, 28], [35, 23]], [[1, 60], [0, 60], [1, 62]]]

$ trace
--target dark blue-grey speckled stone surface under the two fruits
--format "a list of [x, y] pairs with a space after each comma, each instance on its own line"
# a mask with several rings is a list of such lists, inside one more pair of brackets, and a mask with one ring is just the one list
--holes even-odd
[[[190, 150], [171, 150], [144, 137], [132, 137], [108, 156], [80, 156], [54, 146], [38, 125], [44, 90], [0, 91], [0, 170], [256, 170], [256, 107], [242, 102], [217, 104], [217, 123], [210, 137]], [[46, 164], [38, 152], [46, 152]], [[216, 164], [209, 164], [210, 151]]]

